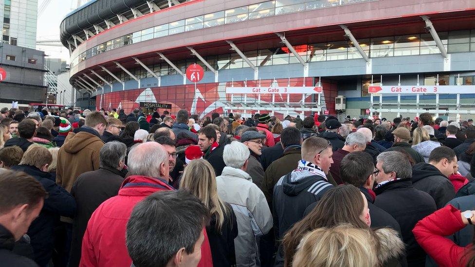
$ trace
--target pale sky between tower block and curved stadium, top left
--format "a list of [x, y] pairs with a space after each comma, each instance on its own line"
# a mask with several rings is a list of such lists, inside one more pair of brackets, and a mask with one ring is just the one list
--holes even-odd
[[[38, 0], [38, 7], [47, 0]], [[87, 0], [81, 0], [81, 4]], [[77, 0], [50, 0], [45, 11], [38, 16], [37, 41], [59, 40], [59, 24], [63, 18], [76, 8]], [[69, 63], [69, 51], [64, 46], [39, 46], [37, 50], [45, 51], [50, 58], [62, 58]]]

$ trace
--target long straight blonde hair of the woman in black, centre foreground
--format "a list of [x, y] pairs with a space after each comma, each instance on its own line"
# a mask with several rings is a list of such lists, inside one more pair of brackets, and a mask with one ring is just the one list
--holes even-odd
[[230, 213], [218, 196], [215, 170], [207, 160], [191, 160], [183, 171], [180, 188], [188, 190], [216, 216], [216, 230], [221, 232], [224, 217]]

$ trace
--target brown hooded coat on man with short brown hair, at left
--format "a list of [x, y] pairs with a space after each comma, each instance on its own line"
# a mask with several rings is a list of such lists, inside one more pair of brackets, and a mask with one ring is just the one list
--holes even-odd
[[89, 127], [69, 133], [58, 152], [56, 183], [68, 192], [76, 178], [85, 172], [99, 169], [99, 152], [104, 146], [99, 133]]

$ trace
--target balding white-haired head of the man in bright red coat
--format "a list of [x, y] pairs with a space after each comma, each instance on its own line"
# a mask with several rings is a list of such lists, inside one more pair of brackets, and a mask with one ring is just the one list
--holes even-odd
[[145, 142], [132, 146], [127, 161], [130, 175], [161, 177], [160, 165], [168, 165], [168, 153], [157, 142]]

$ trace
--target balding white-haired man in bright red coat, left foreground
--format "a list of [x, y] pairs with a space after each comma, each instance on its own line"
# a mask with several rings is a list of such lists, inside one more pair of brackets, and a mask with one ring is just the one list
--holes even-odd
[[[118, 196], [102, 203], [92, 214], [84, 233], [81, 267], [130, 267], [132, 259], [126, 248], [126, 225], [135, 205], [147, 196], [169, 186], [168, 158], [163, 145], [146, 142], [128, 153], [129, 177], [124, 180]], [[198, 266], [213, 266], [208, 237], [204, 231], [201, 261]]]

